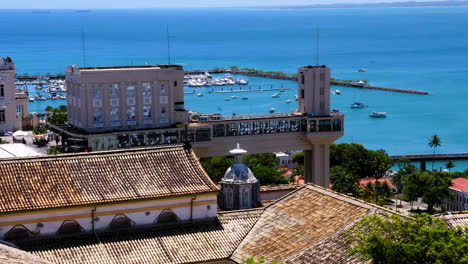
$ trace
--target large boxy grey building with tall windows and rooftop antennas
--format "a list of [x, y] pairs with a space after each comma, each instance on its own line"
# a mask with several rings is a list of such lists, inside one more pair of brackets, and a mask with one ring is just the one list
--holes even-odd
[[78, 67], [66, 71], [68, 123], [87, 132], [187, 122], [178, 65]]

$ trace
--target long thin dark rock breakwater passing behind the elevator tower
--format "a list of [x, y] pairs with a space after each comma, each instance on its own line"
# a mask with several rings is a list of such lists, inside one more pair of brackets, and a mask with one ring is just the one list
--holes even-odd
[[[253, 77], [263, 77], [263, 78], [297, 81], [297, 76], [269, 74], [269, 73], [263, 73], [263, 72], [250, 72], [250, 71], [242, 71], [242, 70], [222, 70], [222, 69], [220, 69], [220, 70], [185, 71], [186, 74], [202, 74], [204, 72], [208, 72], [210, 74], [211, 73], [230, 73], [230, 74], [240, 74], [240, 75], [253, 76]], [[409, 94], [417, 94], [417, 95], [427, 95], [427, 94], [429, 94], [426, 91], [411, 90], [411, 89], [399, 89], [399, 88], [388, 88], [388, 87], [380, 87], [380, 86], [373, 86], [373, 85], [367, 85], [367, 84], [363, 85], [363, 84], [360, 84], [360, 83], [343, 82], [343, 81], [336, 81], [336, 80], [331, 80], [330, 83], [332, 85], [346, 86], [346, 87], [353, 87], [353, 88], [360, 88], [360, 89], [380, 90], [380, 91], [397, 92], [397, 93], [409, 93]]]

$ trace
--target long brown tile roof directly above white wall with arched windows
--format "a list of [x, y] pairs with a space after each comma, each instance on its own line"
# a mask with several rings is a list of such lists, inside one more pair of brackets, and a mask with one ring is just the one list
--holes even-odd
[[0, 161], [0, 213], [217, 190], [180, 146]]

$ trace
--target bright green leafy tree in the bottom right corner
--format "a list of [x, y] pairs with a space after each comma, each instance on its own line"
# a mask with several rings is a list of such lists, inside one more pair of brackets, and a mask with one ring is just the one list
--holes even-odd
[[366, 217], [348, 235], [350, 253], [375, 264], [468, 263], [468, 229], [451, 229], [427, 214]]

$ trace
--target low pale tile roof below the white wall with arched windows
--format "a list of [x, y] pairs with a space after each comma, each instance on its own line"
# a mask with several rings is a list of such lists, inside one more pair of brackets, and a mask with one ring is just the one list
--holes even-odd
[[219, 222], [17, 243], [53, 263], [198, 263], [227, 260], [263, 209], [223, 212]]

